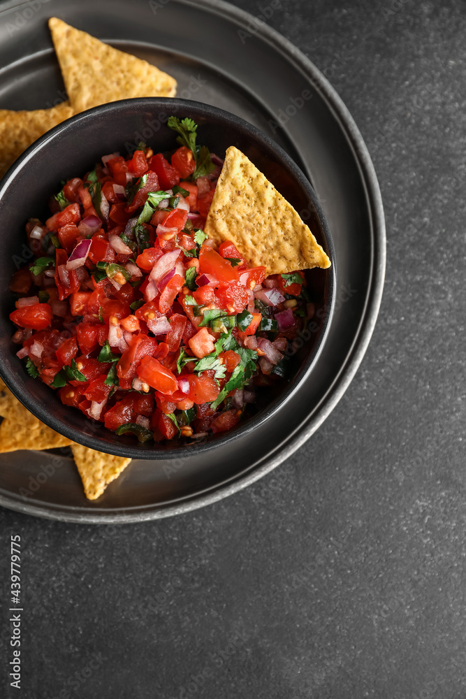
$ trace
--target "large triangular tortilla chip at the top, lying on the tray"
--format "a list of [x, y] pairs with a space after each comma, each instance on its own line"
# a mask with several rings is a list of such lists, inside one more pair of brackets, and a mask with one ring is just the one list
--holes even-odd
[[174, 97], [176, 80], [57, 17], [49, 28], [75, 112], [127, 97]]

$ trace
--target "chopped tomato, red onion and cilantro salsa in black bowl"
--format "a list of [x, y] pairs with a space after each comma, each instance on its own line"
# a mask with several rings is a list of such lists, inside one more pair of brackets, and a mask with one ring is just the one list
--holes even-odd
[[29, 375], [140, 441], [233, 428], [314, 313], [302, 272], [267, 276], [233, 243], [214, 249], [203, 226], [222, 161], [192, 120], [168, 125], [171, 154], [141, 143], [62, 182], [10, 282]]

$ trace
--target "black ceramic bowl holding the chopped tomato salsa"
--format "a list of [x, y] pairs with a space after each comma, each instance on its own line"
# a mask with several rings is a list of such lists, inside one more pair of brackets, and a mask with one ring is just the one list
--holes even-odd
[[[273, 389], [257, 391], [258, 402], [248, 408], [249, 414], [232, 431], [212, 435], [202, 444], [193, 441], [189, 446], [176, 441], [140, 444], [129, 435], [117, 437], [103, 424], [63, 405], [52, 389], [27, 374], [24, 362], [16, 356], [18, 346], [10, 340], [14, 326], [8, 318], [14, 308], [14, 296], [8, 290], [10, 278], [28, 259], [24, 231], [27, 219], [45, 220], [50, 215], [48, 199], [59, 189], [59, 182], [89, 171], [102, 155], [115, 151], [126, 155], [140, 140], [152, 146], [154, 152], [173, 150], [177, 147], [176, 135], [166, 126], [170, 115], [193, 118], [199, 124], [198, 143], [208, 145], [220, 157], [230, 145], [242, 150], [300, 212], [332, 261], [328, 270], [307, 272], [316, 316], [291, 359], [289, 380]], [[224, 110], [183, 99], [145, 98], [117, 101], [76, 115], [39, 138], [1, 180], [0, 227], [0, 375], [13, 394], [45, 424], [92, 449], [133, 459], [170, 459], [199, 454], [212, 445], [234, 440], [289, 403], [312, 371], [326, 338], [333, 312], [335, 254], [314, 189], [281, 147], [252, 124]]]

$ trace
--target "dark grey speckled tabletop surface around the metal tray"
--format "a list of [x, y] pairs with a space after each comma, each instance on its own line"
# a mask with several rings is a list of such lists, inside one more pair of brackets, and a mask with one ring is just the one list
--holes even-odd
[[282, 0], [268, 22], [330, 78], [379, 175], [372, 344], [319, 433], [217, 505], [119, 528], [0, 511], [3, 573], [24, 542], [24, 698], [74, 672], [82, 699], [465, 696], [466, 7]]

